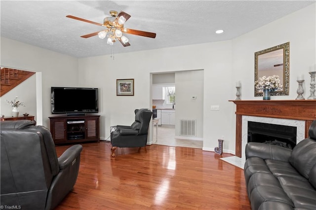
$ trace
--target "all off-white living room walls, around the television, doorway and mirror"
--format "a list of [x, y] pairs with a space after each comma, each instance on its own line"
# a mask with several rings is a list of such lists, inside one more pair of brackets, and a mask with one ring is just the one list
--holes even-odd
[[[203, 149], [213, 150], [225, 136], [224, 152], [235, 153], [236, 81], [242, 100], [254, 97], [254, 52], [290, 42], [290, 95], [297, 97], [297, 75], [304, 74], [310, 94], [309, 67], [316, 63], [315, 4], [233, 40], [76, 59], [1, 37], [1, 65], [42, 72], [43, 124], [49, 127], [51, 86], [100, 88], [101, 137], [110, 126], [134, 121], [134, 109], [151, 108], [151, 73], [203, 70]], [[5, 53], [4, 53], [5, 52]], [[162, 62], [163, 61], [163, 62]], [[116, 79], [135, 79], [134, 96], [116, 96]], [[19, 94], [21, 95], [21, 94]], [[2, 100], [2, 99], [1, 99]], [[220, 105], [211, 111], [210, 105]]]

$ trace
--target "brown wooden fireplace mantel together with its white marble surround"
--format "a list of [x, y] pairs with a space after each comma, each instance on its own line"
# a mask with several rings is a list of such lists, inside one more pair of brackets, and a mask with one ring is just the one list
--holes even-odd
[[[235, 155], [244, 158], [248, 121], [297, 127], [297, 142], [308, 137], [316, 120], [316, 100], [240, 100], [236, 104]], [[242, 155], [243, 154], [243, 155]]]

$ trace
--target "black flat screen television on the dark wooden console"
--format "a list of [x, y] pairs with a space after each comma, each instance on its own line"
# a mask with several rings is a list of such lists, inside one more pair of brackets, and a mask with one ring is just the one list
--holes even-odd
[[97, 113], [98, 88], [51, 87], [51, 113]]

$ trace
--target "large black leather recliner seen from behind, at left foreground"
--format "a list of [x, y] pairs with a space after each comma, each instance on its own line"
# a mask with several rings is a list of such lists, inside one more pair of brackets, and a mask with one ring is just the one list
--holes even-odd
[[54, 209], [74, 187], [81, 145], [57, 158], [50, 131], [35, 121], [2, 121], [1, 206]]

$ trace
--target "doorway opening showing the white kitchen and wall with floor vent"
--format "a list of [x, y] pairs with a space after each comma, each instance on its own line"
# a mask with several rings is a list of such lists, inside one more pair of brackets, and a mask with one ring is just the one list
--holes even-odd
[[[159, 119], [157, 138], [154, 126], [152, 142], [202, 148], [203, 70], [151, 73], [151, 76], [151, 103]], [[197, 122], [197, 135], [183, 135], [181, 121]]]

